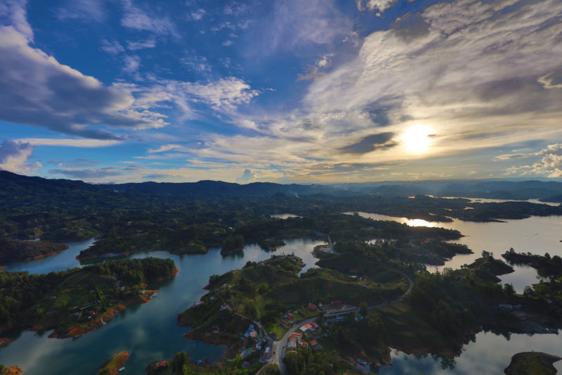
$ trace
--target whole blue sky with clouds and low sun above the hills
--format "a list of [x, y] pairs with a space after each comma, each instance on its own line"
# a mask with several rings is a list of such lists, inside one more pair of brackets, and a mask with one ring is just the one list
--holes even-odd
[[562, 177], [559, 0], [2, 0], [0, 169]]

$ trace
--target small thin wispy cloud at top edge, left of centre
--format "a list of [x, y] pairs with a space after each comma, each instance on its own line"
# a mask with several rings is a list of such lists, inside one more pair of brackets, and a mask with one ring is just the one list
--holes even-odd
[[[178, 37], [176, 25], [169, 18], [149, 15], [148, 11], [133, 4], [131, 0], [122, 0], [122, 4], [124, 15], [121, 19], [121, 25], [124, 27]], [[154, 12], [150, 13], [153, 14]]]

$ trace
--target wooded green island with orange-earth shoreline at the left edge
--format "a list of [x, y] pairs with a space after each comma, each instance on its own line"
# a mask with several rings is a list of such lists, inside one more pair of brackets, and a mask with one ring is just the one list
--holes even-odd
[[102, 326], [128, 305], [157, 291], [148, 283], [174, 277], [172, 260], [115, 260], [49, 274], [0, 272], [0, 333], [14, 327], [54, 329], [72, 338]]

